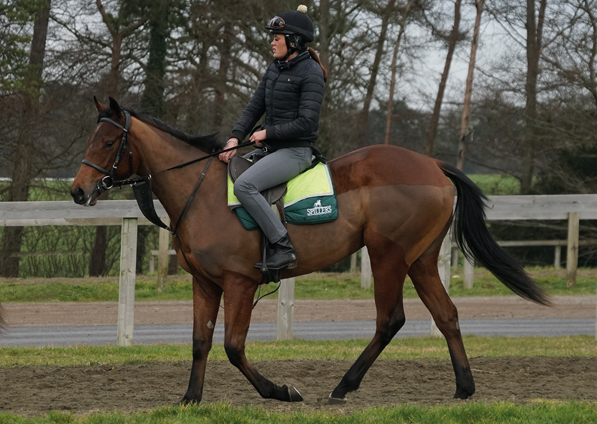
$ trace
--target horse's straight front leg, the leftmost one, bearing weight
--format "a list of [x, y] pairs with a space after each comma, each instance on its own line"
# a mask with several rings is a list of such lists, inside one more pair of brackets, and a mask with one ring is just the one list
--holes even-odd
[[222, 289], [218, 285], [193, 278], [193, 365], [182, 404], [201, 402], [207, 355], [211, 350], [221, 298]]

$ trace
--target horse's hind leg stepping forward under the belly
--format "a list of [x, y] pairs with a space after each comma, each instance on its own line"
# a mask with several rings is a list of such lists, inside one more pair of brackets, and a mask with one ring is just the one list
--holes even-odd
[[368, 243], [375, 279], [375, 335], [332, 391], [331, 401], [343, 401], [346, 393], [359, 388], [365, 373], [406, 321], [402, 288], [408, 265], [404, 261], [404, 251], [401, 246], [384, 236], [376, 235], [375, 238], [379, 240]]

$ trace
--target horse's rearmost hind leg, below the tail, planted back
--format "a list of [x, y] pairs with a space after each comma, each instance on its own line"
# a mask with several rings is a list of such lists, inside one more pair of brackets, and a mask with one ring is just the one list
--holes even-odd
[[458, 312], [442, 285], [437, 269], [442, 239], [443, 237], [436, 239], [429, 249], [411, 265], [408, 275], [448, 343], [452, 366], [456, 374], [454, 397], [466, 399], [475, 393], [475, 382], [460, 334]]

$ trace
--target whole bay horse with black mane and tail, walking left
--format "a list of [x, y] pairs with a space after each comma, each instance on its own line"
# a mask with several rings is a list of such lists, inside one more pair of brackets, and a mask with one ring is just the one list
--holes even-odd
[[[215, 135], [192, 137], [132, 109], [123, 109], [114, 99], [110, 99], [109, 106], [94, 100], [98, 125], [88, 139], [71, 195], [78, 204], [94, 205], [102, 186], [104, 190], [110, 188], [114, 179], [151, 175], [153, 192], [170, 222], [178, 222], [173, 244], [180, 264], [193, 276], [193, 363], [182, 403], [201, 401], [207, 355], [223, 293], [224, 347], [230, 362], [262, 397], [301, 401], [295, 387], [274, 384], [245, 356], [254, 295], [262, 279], [253, 267], [261, 259], [261, 235], [243, 229], [229, 210], [226, 165], [219, 160], [205, 160], [163, 172], [217, 152], [221, 146]], [[112, 170], [107, 171], [110, 167]], [[475, 392], [475, 383], [456, 307], [441, 283], [437, 267], [452, 218], [457, 242], [466, 256], [474, 257], [523, 298], [547, 305], [547, 297], [491, 238], [483, 209], [486, 198], [456, 168], [383, 145], [338, 157], [329, 162], [329, 167], [339, 217], [325, 224], [288, 225], [298, 266], [285, 270], [282, 278], [321, 270], [363, 246], [369, 250], [375, 281], [375, 335], [330, 399], [344, 401], [348, 392], [357, 390], [369, 367], [404, 325], [402, 291], [407, 275], [445, 336], [456, 376], [454, 397], [468, 398]], [[453, 213], [454, 187], [458, 196]], [[187, 205], [195, 191], [193, 201]]]

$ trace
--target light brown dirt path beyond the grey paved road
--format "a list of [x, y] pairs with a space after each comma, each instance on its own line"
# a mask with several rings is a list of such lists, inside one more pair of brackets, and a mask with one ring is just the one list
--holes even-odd
[[[549, 308], [517, 296], [453, 298], [460, 319], [475, 318], [594, 318], [595, 296], [553, 296]], [[373, 300], [295, 300], [296, 322], [366, 321], [375, 319]], [[118, 304], [99, 303], [6, 303], [8, 325], [116, 325]], [[409, 320], [430, 319], [419, 299], [405, 299]], [[222, 312], [218, 321], [222, 322]], [[135, 324], [188, 324], [191, 302], [137, 302]], [[253, 311], [252, 322], [275, 322], [277, 301], [264, 299]]]

